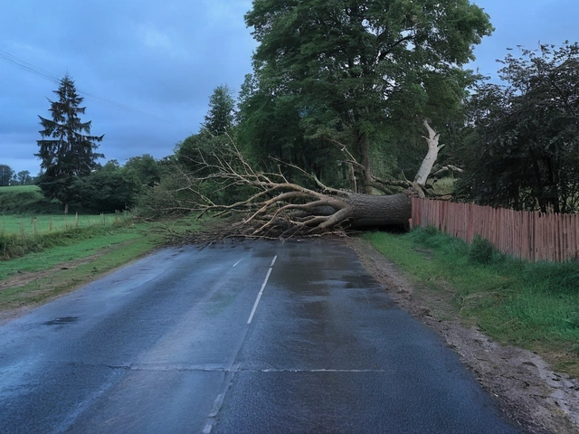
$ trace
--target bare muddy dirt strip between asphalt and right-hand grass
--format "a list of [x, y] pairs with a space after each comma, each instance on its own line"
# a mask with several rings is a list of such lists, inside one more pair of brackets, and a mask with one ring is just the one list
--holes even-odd
[[524, 432], [579, 432], [579, 381], [554, 373], [537, 354], [491, 341], [460, 318], [451, 291], [413, 283], [366, 241], [348, 243], [396, 303], [442, 336]]

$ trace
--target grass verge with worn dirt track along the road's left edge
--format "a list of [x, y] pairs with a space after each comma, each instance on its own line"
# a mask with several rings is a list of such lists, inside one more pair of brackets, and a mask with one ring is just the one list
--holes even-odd
[[[0, 260], [0, 314], [38, 306], [166, 244], [167, 235], [197, 231], [190, 218], [75, 230], [59, 245]], [[0, 318], [2, 315], [0, 315]]]

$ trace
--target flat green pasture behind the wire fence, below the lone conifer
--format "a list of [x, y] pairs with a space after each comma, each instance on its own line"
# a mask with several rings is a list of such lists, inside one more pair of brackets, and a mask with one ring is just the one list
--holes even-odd
[[[13, 187], [9, 187], [13, 188]], [[14, 187], [18, 188], [18, 187]], [[34, 217], [21, 217], [16, 215], [0, 215], [0, 234], [22, 234], [24, 236], [34, 236], [34, 220], [36, 220], [36, 234], [49, 233], [54, 231], [65, 231], [75, 227], [86, 228], [94, 225], [109, 225], [115, 220], [128, 217], [125, 214], [104, 214], [104, 215], [79, 215], [69, 214], [39, 214]]]

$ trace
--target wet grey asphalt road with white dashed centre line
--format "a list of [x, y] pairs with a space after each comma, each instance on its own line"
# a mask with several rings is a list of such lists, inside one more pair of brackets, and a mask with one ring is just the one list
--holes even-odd
[[163, 250], [0, 327], [0, 433], [511, 433], [338, 242]]

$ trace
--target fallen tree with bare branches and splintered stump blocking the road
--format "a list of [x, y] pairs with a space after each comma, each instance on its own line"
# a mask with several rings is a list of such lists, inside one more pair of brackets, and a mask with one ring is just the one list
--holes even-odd
[[[429, 130], [429, 169], [432, 169], [432, 128]], [[436, 135], [436, 141], [438, 136]], [[436, 148], [440, 149], [436, 142]], [[365, 229], [387, 226], [407, 227], [412, 214], [414, 195], [424, 196], [426, 176], [419, 171], [421, 184], [408, 180], [380, 180], [373, 177], [373, 185], [397, 189], [399, 193], [372, 195], [338, 190], [321, 183], [296, 165], [279, 160], [277, 172], [260, 172], [252, 168], [242, 153], [230, 141], [225, 150], [208, 155], [199, 150], [195, 157], [188, 156], [193, 172], [182, 171], [183, 183], [172, 193], [179, 199], [176, 209], [198, 212], [199, 216], [211, 213], [216, 216], [235, 214], [238, 217], [226, 235], [287, 238], [294, 235], [318, 235], [325, 232], [342, 233], [346, 229]], [[437, 149], [437, 150], [438, 150]], [[422, 165], [424, 166], [424, 164]], [[356, 163], [352, 162], [353, 170]], [[309, 186], [290, 182], [284, 170], [299, 172]], [[418, 176], [417, 175], [417, 176]], [[204, 185], [211, 184], [211, 193], [204, 193]], [[386, 188], [384, 188], [385, 190]], [[233, 203], [219, 203], [215, 193], [244, 192], [242, 199]], [[183, 194], [185, 193], [186, 194]], [[220, 229], [223, 231], [223, 228]]]

